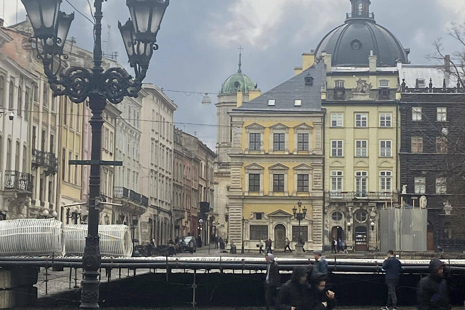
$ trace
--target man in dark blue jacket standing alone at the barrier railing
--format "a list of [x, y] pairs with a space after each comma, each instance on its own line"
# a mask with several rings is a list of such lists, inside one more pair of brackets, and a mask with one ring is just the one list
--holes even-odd
[[[399, 274], [402, 264], [394, 256], [394, 252], [389, 250], [387, 257], [383, 262], [383, 269], [386, 273], [385, 281], [388, 288], [388, 300], [386, 302], [386, 307], [382, 307], [382, 310], [397, 310], [397, 285], [399, 284]], [[391, 308], [390, 308], [391, 307]]]

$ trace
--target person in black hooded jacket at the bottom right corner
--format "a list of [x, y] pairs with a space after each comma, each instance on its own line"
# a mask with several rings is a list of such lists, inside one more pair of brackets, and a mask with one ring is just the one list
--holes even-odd
[[417, 288], [418, 310], [449, 310], [449, 288], [444, 279], [445, 264], [434, 258], [429, 262], [429, 275]]

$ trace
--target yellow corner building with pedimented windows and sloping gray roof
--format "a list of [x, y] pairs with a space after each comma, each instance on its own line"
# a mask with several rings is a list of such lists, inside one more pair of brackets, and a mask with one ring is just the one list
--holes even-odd
[[[322, 248], [325, 79], [319, 63], [266, 93], [249, 91], [248, 102], [238, 89], [227, 185], [228, 237], [238, 248], [268, 238], [274, 249], [284, 250], [286, 238]], [[300, 226], [294, 207], [307, 211]]]

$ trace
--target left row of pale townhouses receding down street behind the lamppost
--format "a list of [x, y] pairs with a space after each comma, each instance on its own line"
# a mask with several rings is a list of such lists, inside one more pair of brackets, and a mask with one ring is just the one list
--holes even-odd
[[[69, 160], [90, 159], [89, 104], [52, 96], [31, 33], [28, 22], [0, 21], [0, 220], [86, 223], [90, 167]], [[63, 66], [93, 66], [91, 52], [75, 41], [66, 42], [65, 52]], [[103, 60], [105, 69], [115, 65]], [[102, 159], [123, 165], [101, 168], [101, 196], [112, 204], [100, 223], [127, 224], [142, 244], [211, 236], [215, 155], [174, 128], [176, 110], [161, 89], [144, 83], [138, 98], [107, 104], [103, 112]]]

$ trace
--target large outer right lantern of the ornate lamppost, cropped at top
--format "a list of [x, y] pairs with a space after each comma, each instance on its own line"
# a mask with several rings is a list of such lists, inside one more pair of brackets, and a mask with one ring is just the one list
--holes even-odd
[[138, 41], [156, 42], [156, 34], [169, 4], [169, 0], [126, 0]]

